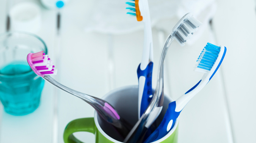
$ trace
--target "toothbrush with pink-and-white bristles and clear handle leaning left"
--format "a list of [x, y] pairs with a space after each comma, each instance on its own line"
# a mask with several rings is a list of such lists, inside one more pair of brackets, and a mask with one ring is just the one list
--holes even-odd
[[47, 55], [45, 55], [43, 51], [38, 53], [29, 53], [27, 56], [27, 61], [30, 68], [37, 75], [50, 82], [52, 85], [60, 88], [61, 90], [77, 96], [78, 98], [81, 98], [83, 101], [89, 103], [92, 107], [94, 107], [100, 117], [105, 119], [105, 121], [107, 121], [108, 123], [112, 124], [122, 138], [125, 138], [126, 135], [129, 133], [132, 126], [126, 120], [119, 116], [117, 111], [113, 108], [113, 106], [110, 105], [110, 103], [100, 98], [96, 98], [84, 93], [80, 93], [76, 90], [72, 90], [69, 87], [61, 85], [55, 79], [50, 77], [50, 75], [57, 74], [57, 69], [55, 69], [52, 60]]

